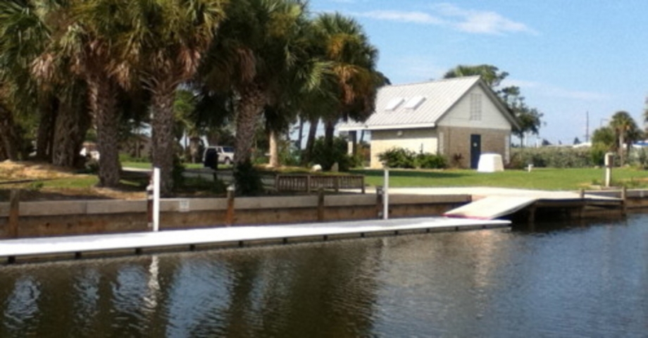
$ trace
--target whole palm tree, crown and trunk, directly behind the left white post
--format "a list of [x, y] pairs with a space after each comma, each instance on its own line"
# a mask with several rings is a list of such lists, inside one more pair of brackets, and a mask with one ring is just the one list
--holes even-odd
[[227, 1], [119, 2], [119, 20], [124, 28], [116, 44], [124, 51], [125, 60], [118, 68], [134, 74], [151, 93], [153, 165], [161, 168], [161, 190], [167, 193], [173, 188], [175, 91], [196, 75], [204, 52], [225, 18]]

